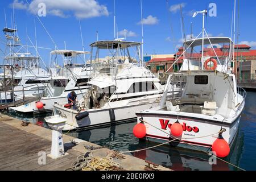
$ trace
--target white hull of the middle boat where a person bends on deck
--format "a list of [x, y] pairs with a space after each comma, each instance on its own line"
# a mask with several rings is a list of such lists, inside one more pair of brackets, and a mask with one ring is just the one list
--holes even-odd
[[[158, 106], [159, 102], [156, 102], [156, 98], [158, 97], [151, 98], [151, 100], [148, 100], [146, 104], [143, 102], [137, 102], [137, 104], [134, 105], [112, 107], [107, 109], [90, 109], [88, 110], [88, 117], [80, 120], [76, 119], [76, 115], [79, 114], [78, 111], [67, 109], [57, 104], [55, 104], [54, 107], [56, 112], [55, 114], [60, 115], [60, 117], [67, 118], [66, 125], [63, 129], [65, 131], [97, 127], [108, 125], [110, 123], [119, 123], [136, 119], [136, 111], [142, 111], [149, 109], [150, 107]], [[114, 114], [110, 114], [112, 110]]]

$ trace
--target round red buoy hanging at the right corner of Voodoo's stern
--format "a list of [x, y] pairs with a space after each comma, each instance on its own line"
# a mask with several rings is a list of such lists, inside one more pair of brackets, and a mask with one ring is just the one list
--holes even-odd
[[212, 144], [212, 151], [220, 158], [225, 158], [229, 155], [230, 148], [228, 142], [222, 137], [222, 134]]

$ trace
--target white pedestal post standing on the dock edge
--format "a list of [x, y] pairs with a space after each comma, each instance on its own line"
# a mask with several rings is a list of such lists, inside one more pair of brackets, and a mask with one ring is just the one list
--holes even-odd
[[63, 136], [62, 130], [65, 126], [67, 119], [54, 116], [50, 119], [47, 119], [48, 126], [52, 129], [52, 148], [51, 154], [48, 154], [52, 159], [60, 158], [65, 155], [64, 145], [63, 145]]

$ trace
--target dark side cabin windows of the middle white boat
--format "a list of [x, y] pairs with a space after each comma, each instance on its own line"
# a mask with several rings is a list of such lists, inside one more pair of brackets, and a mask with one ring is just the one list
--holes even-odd
[[130, 86], [127, 93], [137, 93], [137, 92], [147, 92], [157, 90], [154, 82], [152, 81], [144, 81], [144, 82], [136, 82]]

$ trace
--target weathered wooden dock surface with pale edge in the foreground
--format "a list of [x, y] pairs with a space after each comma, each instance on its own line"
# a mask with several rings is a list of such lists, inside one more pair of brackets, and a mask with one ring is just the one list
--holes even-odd
[[[77, 139], [63, 134], [64, 150], [67, 155], [58, 159], [49, 158], [46, 155], [46, 164], [40, 164], [43, 152], [51, 153], [52, 130], [30, 123], [22, 125], [22, 121], [0, 114], [0, 170], [36, 170], [36, 171], [63, 171], [71, 170], [72, 163], [77, 156], [84, 155], [88, 150], [84, 146], [98, 147], [93, 150], [93, 156], [105, 158], [113, 152], [108, 148]], [[73, 144], [71, 141], [75, 141]], [[124, 155], [125, 159], [114, 158], [113, 161], [121, 165], [127, 171], [144, 171], [148, 165], [144, 160], [131, 155]], [[162, 166], [157, 167], [160, 171], [171, 169]]]

